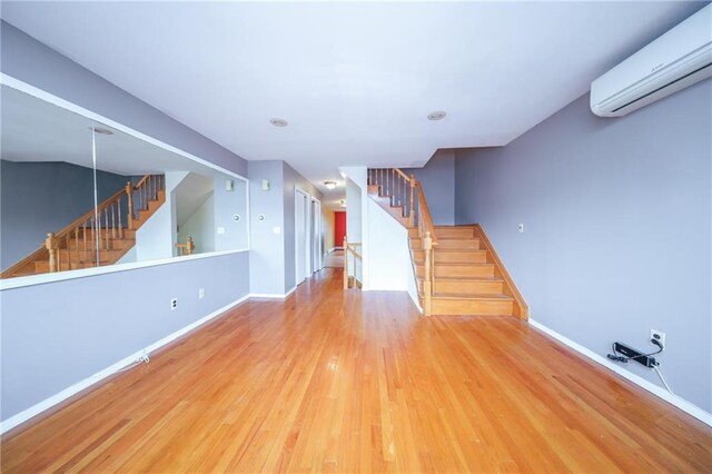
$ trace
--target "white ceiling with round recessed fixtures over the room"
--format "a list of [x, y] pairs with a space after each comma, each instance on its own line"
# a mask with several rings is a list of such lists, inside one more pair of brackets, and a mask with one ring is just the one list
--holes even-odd
[[286, 160], [328, 200], [338, 166], [507, 144], [703, 6], [3, 2], [2, 17], [237, 155]]

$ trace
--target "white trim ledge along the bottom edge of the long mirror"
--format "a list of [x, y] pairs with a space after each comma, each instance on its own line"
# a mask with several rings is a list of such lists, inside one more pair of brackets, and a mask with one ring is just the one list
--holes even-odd
[[39, 274], [24, 277], [0, 279], [0, 292], [26, 286], [43, 285], [46, 283], [63, 282], [67, 279], [85, 278], [97, 275], [113, 274], [117, 271], [135, 270], [137, 268], [155, 267], [158, 265], [179, 264], [181, 261], [199, 260], [201, 258], [219, 257], [222, 255], [240, 254], [249, 251], [247, 248], [239, 250], [210, 251], [207, 254], [185, 255], [182, 257], [158, 258], [156, 260], [131, 261], [127, 264], [108, 265], [106, 267], [82, 268], [78, 270], [57, 271], [53, 274]]

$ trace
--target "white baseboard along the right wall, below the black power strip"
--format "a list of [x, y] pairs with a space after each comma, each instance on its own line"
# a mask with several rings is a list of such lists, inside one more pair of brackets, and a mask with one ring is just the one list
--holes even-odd
[[593, 362], [595, 362], [597, 364], [601, 364], [602, 366], [615, 372], [616, 374], [619, 374], [620, 376], [629, 379], [630, 382], [634, 383], [635, 385], [637, 385], [637, 386], [640, 386], [642, 388], [645, 388], [647, 392], [652, 393], [653, 395], [659, 396], [660, 398], [662, 398], [665, 402], [676, 406], [678, 408], [682, 409], [683, 412], [688, 413], [689, 415], [694, 416], [695, 418], [698, 418], [702, 423], [712, 426], [712, 413], [708, 413], [704, 409], [700, 408], [699, 406], [688, 402], [686, 399], [671, 394], [670, 392], [668, 392], [663, 387], [646, 381], [645, 378], [641, 377], [640, 375], [636, 375], [636, 374], [633, 374], [630, 371], [626, 371], [625, 368], [619, 366], [617, 364], [613, 363], [612, 361], [609, 361], [607, 358], [603, 357], [602, 355], [594, 353], [593, 350], [582, 346], [578, 343], [574, 343], [573, 340], [571, 340], [566, 336], [563, 336], [563, 335], [556, 333], [554, 329], [551, 329], [551, 328], [544, 326], [543, 324], [541, 324], [541, 323], [538, 323], [538, 322], [536, 322], [534, 319], [530, 319], [530, 324], [532, 326], [534, 326], [535, 328], [540, 329], [541, 332], [546, 333], [547, 335], [550, 335], [554, 339], [558, 340], [560, 343], [562, 343], [562, 344], [571, 347], [572, 349], [576, 350], [577, 353], [589, 357], [591, 361], [593, 361]]

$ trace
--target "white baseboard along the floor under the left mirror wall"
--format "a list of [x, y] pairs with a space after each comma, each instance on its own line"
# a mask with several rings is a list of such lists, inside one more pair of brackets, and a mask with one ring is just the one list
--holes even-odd
[[66, 401], [67, 398], [78, 394], [79, 392], [83, 391], [85, 388], [90, 387], [91, 385], [95, 385], [99, 382], [101, 382], [102, 379], [116, 374], [117, 372], [121, 371], [123, 367], [136, 363], [137, 361], [140, 359], [140, 357], [144, 354], [150, 354], [154, 350], [157, 350], [170, 343], [172, 343], [174, 340], [178, 339], [179, 337], [184, 336], [185, 334], [191, 332], [192, 329], [196, 329], [197, 327], [206, 324], [207, 322], [209, 322], [210, 319], [214, 319], [218, 316], [224, 315], [228, 309], [239, 305], [240, 303], [245, 302], [246, 299], [248, 299], [250, 297], [250, 295], [245, 295], [239, 299], [236, 299], [233, 303], [229, 303], [225, 306], [222, 306], [219, 309], [216, 309], [215, 312], [210, 313], [209, 315], [195, 320], [192, 323], [190, 323], [189, 325], [176, 330], [175, 333], [169, 334], [168, 336], [164, 337], [160, 340], [155, 342], [154, 344], [129, 355], [128, 357], [122, 358], [121, 361], [117, 362], [113, 365], [110, 365], [109, 367], [97, 372], [96, 374], [91, 375], [88, 378], [85, 378], [81, 382], [76, 383], [75, 385], [71, 385], [70, 387], [65, 388], [63, 391], [59, 392], [58, 394], [55, 394], [52, 396], [50, 396], [49, 398], [43, 399], [40, 403], [37, 403], [32, 406], [30, 406], [29, 408], [9, 417], [8, 419], [6, 419], [4, 422], [0, 423], [0, 434], [2, 433], [7, 433], [8, 431], [12, 429], [13, 427], [20, 425], [21, 423], [27, 422], [28, 419], [39, 415], [40, 413], [44, 412], [48, 408], [51, 408], [52, 406]]

